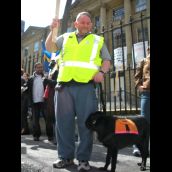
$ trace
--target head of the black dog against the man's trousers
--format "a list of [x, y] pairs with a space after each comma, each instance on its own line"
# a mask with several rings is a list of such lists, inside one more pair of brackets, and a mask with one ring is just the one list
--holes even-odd
[[97, 121], [103, 116], [104, 116], [103, 112], [100, 112], [100, 111], [91, 113], [85, 122], [86, 127], [90, 130], [95, 131]]

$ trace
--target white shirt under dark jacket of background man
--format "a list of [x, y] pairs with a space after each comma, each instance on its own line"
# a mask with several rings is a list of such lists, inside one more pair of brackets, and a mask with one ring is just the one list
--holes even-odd
[[42, 81], [42, 76], [35, 74], [33, 81], [33, 102], [43, 102], [44, 101], [44, 85]]

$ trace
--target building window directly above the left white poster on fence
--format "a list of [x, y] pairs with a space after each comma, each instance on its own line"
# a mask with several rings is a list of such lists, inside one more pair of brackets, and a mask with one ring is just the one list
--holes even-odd
[[114, 35], [114, 48], [122, 47], [122, 45], [126, 46], [126, 39], [125, 39], [124, 31], [122, 32], [122, 35], [121, 35], [121, 30], [116, 29], [114, 30], [113, 35]]

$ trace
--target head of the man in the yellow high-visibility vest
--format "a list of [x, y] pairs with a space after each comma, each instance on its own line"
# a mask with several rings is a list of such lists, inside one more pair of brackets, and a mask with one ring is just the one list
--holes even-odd
[[84, 35], [91, 31], [92, 22], [91, 16], [88, 12], [81, 12], [77, 15], [74, 22], [75, 28], [78, 30], [79, 34]]

